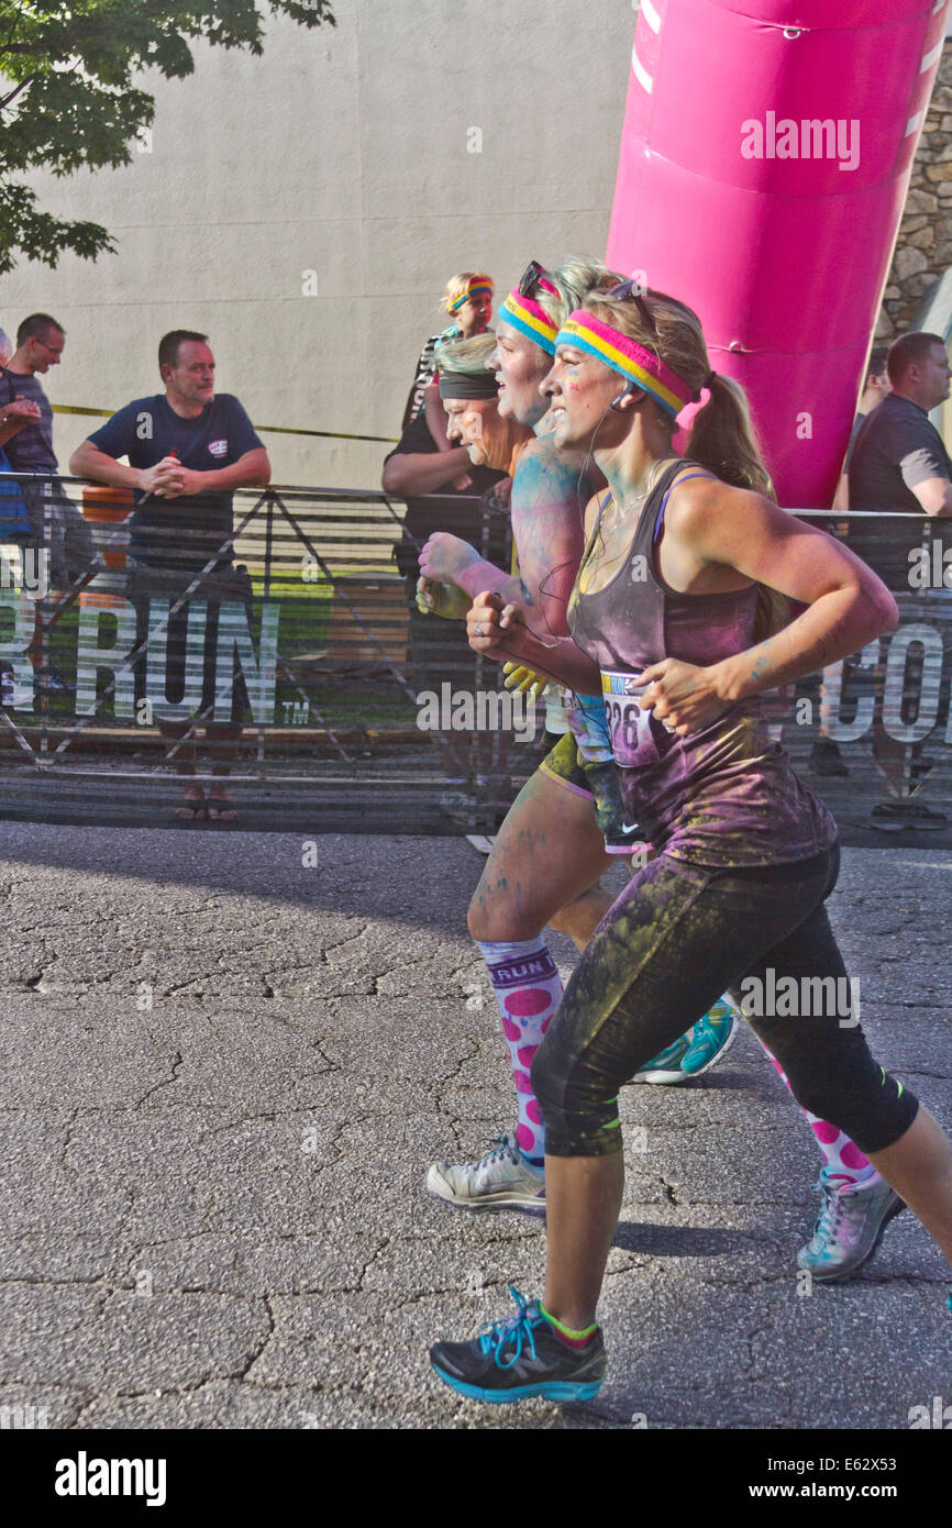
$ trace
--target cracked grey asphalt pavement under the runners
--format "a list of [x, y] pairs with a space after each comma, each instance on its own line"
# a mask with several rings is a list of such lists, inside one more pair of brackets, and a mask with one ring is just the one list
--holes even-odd
[[[312, 868], [304, 839], [0, 824], [0, 1406], [75, 1429], [906, 1429], [947, 1395], [952, 1279], [909, 1213], [857, 1279], [802, 1293], [821, 1161], [746, 1033], [685, 1088], [622, 1091], [597, 1400], [498, 1413], [439, 1384], [428, 1343], [542, 1274], [538, 1221], [423, 1190], [513, 1123], [466, 937], [483, 862], [324, 836]], [[947, 851], [847, 850], [830, 902], [877, 1057], [946, 1129], [950, 891]]]

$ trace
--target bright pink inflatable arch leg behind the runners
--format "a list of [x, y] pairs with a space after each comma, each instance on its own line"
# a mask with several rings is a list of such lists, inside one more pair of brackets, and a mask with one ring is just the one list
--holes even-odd
[[700, 315], [781, 504], [853, 422], [947, 0], [642, 0], [608, 263]]

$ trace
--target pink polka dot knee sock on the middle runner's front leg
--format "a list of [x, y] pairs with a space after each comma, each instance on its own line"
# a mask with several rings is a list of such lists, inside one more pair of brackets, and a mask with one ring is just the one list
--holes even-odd
[[542, 938], [507, 940], [500, 944], [477, 940], [480, 955], [489, 967], [509, 1045], [512, 1079], [518, 1103], [515, 1138], [523, 1157], [533, 1167], [546, 1157], [546, 1129], [529, 1071], [549, 1021], [562, 996], [562, 978]]

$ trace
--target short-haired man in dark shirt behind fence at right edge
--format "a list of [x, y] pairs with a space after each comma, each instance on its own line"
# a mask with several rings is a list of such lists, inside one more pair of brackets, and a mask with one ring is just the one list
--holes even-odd
[[[883, 521], [885, 529], [879, 529], [876, 520], [853, 520], [850, 549], [902, 597], [911, 588], [911, 565], [923, 545], [918, 516], [923, 510], [934, 518], [952, 516], [952, 461], [929, 420], [929, 410], [949, 396], [952, 368], [940, 336], [923, 333], [902, 335], [889, 347], [886, 367], [892, 391], [866, 416], [853, 445], [850, 506], [853, 512], [917, 518], [908, 527], [889, 518]], [[911, 678], [915, 678], [914, 671], [921, 674], [921, 654], [918, 660], [909, 659]], [[892, 795], [915, 790], [931, 772], [921, 744], [897, 743], [879, 721], [874, 723], [873, 752]], [[941, 811], [911, 799], [880, 802], [869, 821], [883, 833], [938, 831], [946, 825]]]

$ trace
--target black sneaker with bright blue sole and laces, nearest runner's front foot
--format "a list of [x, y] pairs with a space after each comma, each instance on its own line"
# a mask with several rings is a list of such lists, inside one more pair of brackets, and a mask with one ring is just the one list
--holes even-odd
[[431, 1363], [445, 1384], [474, 1401], [590, 1401], [605, 1377], [605, 1345], [599, 1328], [585, 1348], [561, 1342], [533, 1300], [509, 1285], [516, 1311], [489, 1322], [474, 1342], [439, 1342]]

